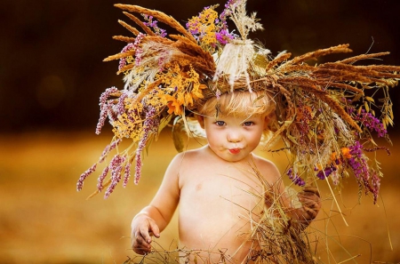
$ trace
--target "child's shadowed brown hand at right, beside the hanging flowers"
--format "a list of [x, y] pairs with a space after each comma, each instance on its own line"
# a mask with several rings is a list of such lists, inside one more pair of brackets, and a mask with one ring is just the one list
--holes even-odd
[[305, 187], [298, 195], [300, 203], [303, 205], [301, 218], [303, 220], [314, 220], [321, 209], [321, 198], [318, 189], [315, 187]]

